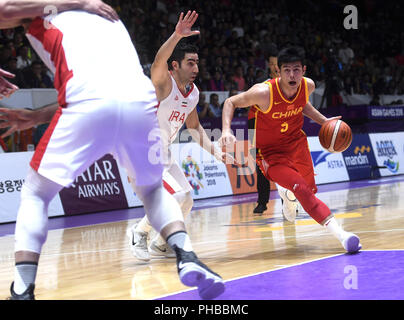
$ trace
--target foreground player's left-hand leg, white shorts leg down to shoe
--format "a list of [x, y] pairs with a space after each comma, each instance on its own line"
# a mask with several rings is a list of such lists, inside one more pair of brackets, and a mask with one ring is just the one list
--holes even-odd
[[[24, 298], [18, 294], [23, 294], [27, 285], [34, 287], [39, 256], [48, 232], [50, 201], [106, 153], [107, 134], [97, 134], [100, 128], [105, 132], [105, 121], [98, 117], [89, 123], [87, 110], [94, 107], [94, 101], [88, 103], [91, 106], [83, 102], [67, 109], [59, 108], [31, 160], [17, 215], [12, 298]], [[106, 118], [110, 119], [108, 115]]]

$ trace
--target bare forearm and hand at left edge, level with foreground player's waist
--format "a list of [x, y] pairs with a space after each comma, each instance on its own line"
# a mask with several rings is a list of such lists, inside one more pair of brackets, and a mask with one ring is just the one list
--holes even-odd
[[36, 110], [0, 108], [0, 129], [8, 128], [1, 137], [50, 122], [58, 107], [58, 104], [51, 104]]

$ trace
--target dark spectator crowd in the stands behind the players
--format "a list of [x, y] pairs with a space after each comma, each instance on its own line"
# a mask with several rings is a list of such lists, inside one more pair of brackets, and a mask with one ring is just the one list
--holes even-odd
[[[338, 103], [344, 94], [404, 94], [403, 5], [353, 1], [358, 29], [344, 28], [336, 0], [110, 0], [129, 30], [145, 73], [173, 32], [179, 13], [196, 10], [201, 91], [244, 91], [268, 78], [268, 56], [287, 45], [305, 50], [308, 77]], [[35, 56], [21, 28], [0, 31], [0, 67], [20, 88], [51, 88], [52, 74]], [[210, 113], [208, 113], [210, 114]]]

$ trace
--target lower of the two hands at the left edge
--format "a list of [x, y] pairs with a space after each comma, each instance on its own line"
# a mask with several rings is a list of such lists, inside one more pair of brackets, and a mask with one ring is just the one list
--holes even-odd
[[0, 129], [8, 128], [8, 130], [1, 135], [2, 138], [16, 131], [30, 129], [35, 125], [37, 125], [37, 123], [33, 117], [33, 111], [31, 110], [0, 108]]

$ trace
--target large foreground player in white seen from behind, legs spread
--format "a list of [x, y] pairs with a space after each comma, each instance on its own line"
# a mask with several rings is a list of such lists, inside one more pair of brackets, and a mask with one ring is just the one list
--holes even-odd
[[[84, 5], [77, 7], [77, 3]], [[181, 208], [163, 188], [163, 165], [149, 157], [155, 146], [149, 134], [159, 131], [153, 84], [144, 75], [116, 13], [109, 21], [75, 10], [86, 9], [89, 3], [113, 11], [99, 0], [75, 1], [73, 7], [64, 0], [0, 1], [0, 28], [24, 27], [32, 47], [55, 74], [60, 106], [34, 153], [21, 190], [11, 299], [35, 298], [49, 202], [106, 153], [112, 153], [135, 177], [137, 194], [153, 228], [176, 252], [181, 282], [197, 286], [202, 298], [214, 298], [224, 291], [223, 280], [196, 257]], [[44, 19], [47, 5], [53, 5], [56, 13]], [[116, 78], [121, 81], [111, 81]]]

